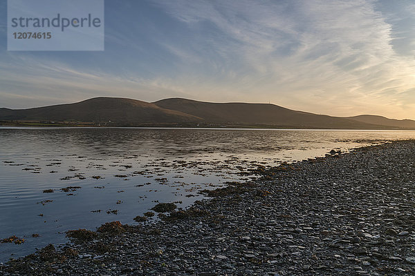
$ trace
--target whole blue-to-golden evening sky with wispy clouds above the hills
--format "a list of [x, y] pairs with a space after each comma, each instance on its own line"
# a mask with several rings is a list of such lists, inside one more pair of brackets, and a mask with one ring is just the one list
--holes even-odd
[[0, 107], [91, 97], [415, 119], [415, 2], [107, 0], [104, 51], [7, 50]]

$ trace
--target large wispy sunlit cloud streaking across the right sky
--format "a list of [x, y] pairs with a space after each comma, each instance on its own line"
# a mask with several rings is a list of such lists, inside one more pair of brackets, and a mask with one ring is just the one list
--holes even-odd
[[415, 117], [404, 97], [415, 84], [413, 59], [392, 46], [393, 28], [376, 1], [157, 2], [191, 26], [211, 23], [225, 39], [199, 43], [243, 61], [222, 90], [313, 112]]

